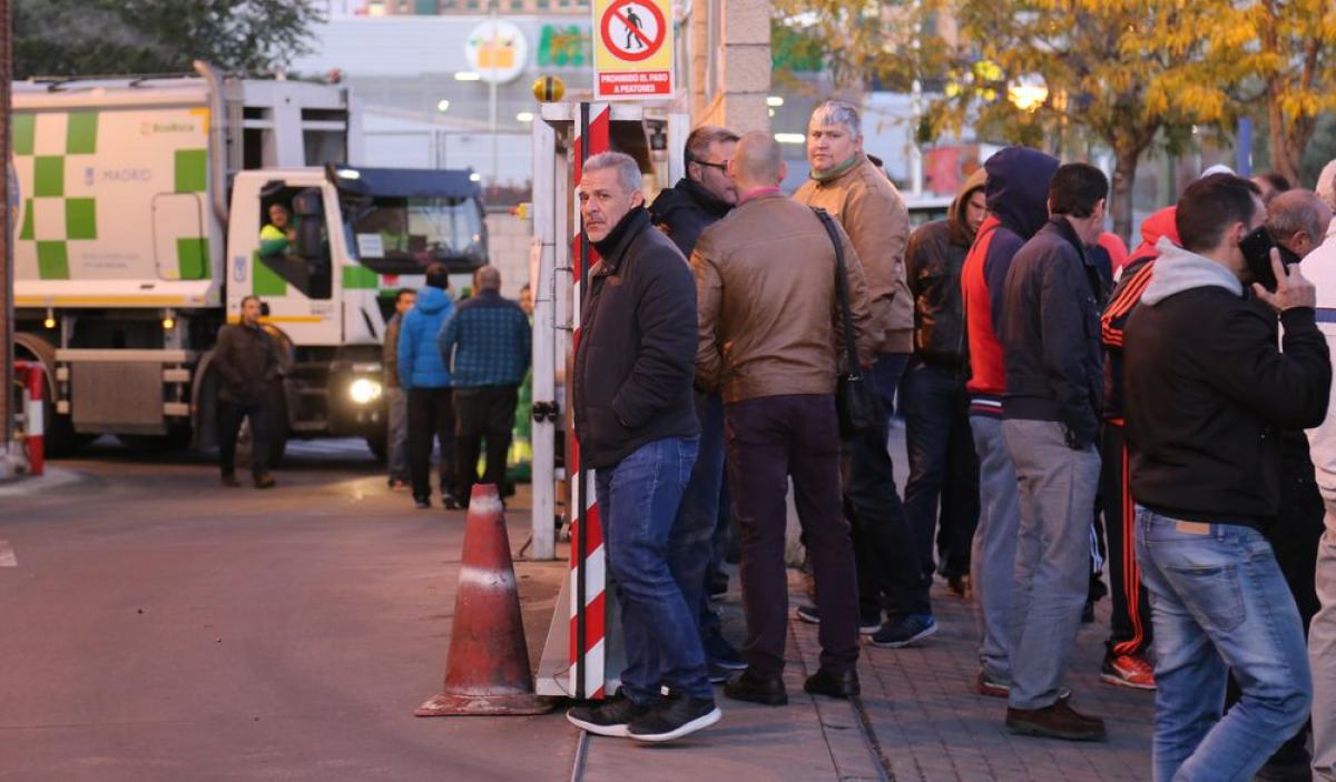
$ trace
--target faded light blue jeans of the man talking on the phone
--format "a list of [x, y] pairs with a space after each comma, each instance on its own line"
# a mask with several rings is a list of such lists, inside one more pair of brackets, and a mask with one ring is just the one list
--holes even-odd
[[[1156, 645], [1156, 782], [1252, 779], [1304, 725], [1312, 674], [1295, 598], [1261, 532], [1137, 506]], [[1230, 670], [1242, 695], [1221, 717]]]

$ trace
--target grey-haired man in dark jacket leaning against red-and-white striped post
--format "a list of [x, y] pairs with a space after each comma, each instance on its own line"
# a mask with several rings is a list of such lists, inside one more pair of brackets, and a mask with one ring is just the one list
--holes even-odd
[[577, 706], [566, 718], [600, 735], [669, 741], [720, 717], [696, 607], [665, 556], [700, 439], [696, 284], [681, 252], [649, 224], [632, 157], [589, 157], [578, 193], [601, 260], [580, 312], [572, 399], [581, 467], [596, 471], [628, 665], [625, 698]]

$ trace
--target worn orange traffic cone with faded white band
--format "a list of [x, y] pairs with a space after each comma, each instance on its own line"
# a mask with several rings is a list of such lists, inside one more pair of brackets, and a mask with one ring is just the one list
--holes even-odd
[[533, 694], [501, 499], [496, 486], [480, 483], [469, 498], [445, 691], [414, 714], [542, 714], [550, 709]]

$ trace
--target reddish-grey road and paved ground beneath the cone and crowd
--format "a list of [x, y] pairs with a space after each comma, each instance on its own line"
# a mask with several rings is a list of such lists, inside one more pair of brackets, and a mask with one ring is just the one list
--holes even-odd
[[[973, 694], [970, 605], [945, 590], [921, 649], [864, 647], [860, 710], [802, 693], [816, 633], [794, 622], [790, 706], [720, 694], [724, 719], [676, 745], [581, 745], [560, 709], [414, 718], [445, 671], [464, 514], [413, 510], [359, 440], [289, 455], [278, 488], [226, 490], [207, 455], [104, 440], [48, 490], [0, 486], [0, 781], [1149, 778], [1153, 697], [1098, 682], [1102, 625], [1067, 683], [1110, 742], [1014, 738]], [[517, 563], [534, 665], [564, 572]]]

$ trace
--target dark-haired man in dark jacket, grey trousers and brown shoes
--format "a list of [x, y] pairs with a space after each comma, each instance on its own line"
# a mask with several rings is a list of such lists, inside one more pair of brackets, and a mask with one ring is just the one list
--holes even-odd
[[1049, 185], [1051, 216], [1011, 260], [998, 323], [1007, 388], [1002, 439], [1021, 498], [1006, 725], [1071, 741], [1105, 735], [1104, 721], [1078, 714], [1059, 693], [1089, 590], [1100, 480], [1104, 291], [1085, 248], [1100, 239], [1108, 195], [1098, 168], [1058, 168]]

